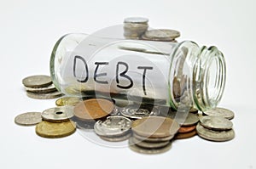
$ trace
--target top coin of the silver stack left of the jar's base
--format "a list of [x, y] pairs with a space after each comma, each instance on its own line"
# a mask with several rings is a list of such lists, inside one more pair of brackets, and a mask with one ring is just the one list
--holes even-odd
[[28, 76], [22, 80], [26, 87], [47, 87], [52, 84], [50, 76], [36, 75]]

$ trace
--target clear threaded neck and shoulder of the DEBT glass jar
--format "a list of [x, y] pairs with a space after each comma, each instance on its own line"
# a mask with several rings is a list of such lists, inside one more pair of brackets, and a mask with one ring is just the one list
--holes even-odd
[[[216, 47], [198, 47], [195, 42], [178, 43], [172, 53], [171, 75], [180, 85], [179, 98], [172, 93], [173, 104], [198, 110], [216, 107], [225, 86], [226, 67], [223, 54]], [[177, 91], [174, 81], [172, 91]]]

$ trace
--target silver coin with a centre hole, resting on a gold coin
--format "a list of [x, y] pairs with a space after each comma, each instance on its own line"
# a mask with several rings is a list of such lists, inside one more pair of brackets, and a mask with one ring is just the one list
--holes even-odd
[[42, 112], [44, 121], [69, 121], [73, 117], [73, 106], [54, 107]]

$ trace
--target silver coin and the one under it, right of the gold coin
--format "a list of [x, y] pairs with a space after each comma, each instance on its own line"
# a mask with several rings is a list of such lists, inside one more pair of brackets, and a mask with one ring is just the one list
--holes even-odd
[[107, 120], [96, 121], [94, 131], [100, 138], [119, 142], [131, 137], [131, 120], [124, 116], [108, 116]]

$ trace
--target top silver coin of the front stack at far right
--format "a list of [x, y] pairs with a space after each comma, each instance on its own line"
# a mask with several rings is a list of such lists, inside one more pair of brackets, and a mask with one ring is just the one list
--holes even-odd
[[201, 126], [212, 130], [230, 130], [233, 123], [221, 116], [202, 116], [200, 118]]

